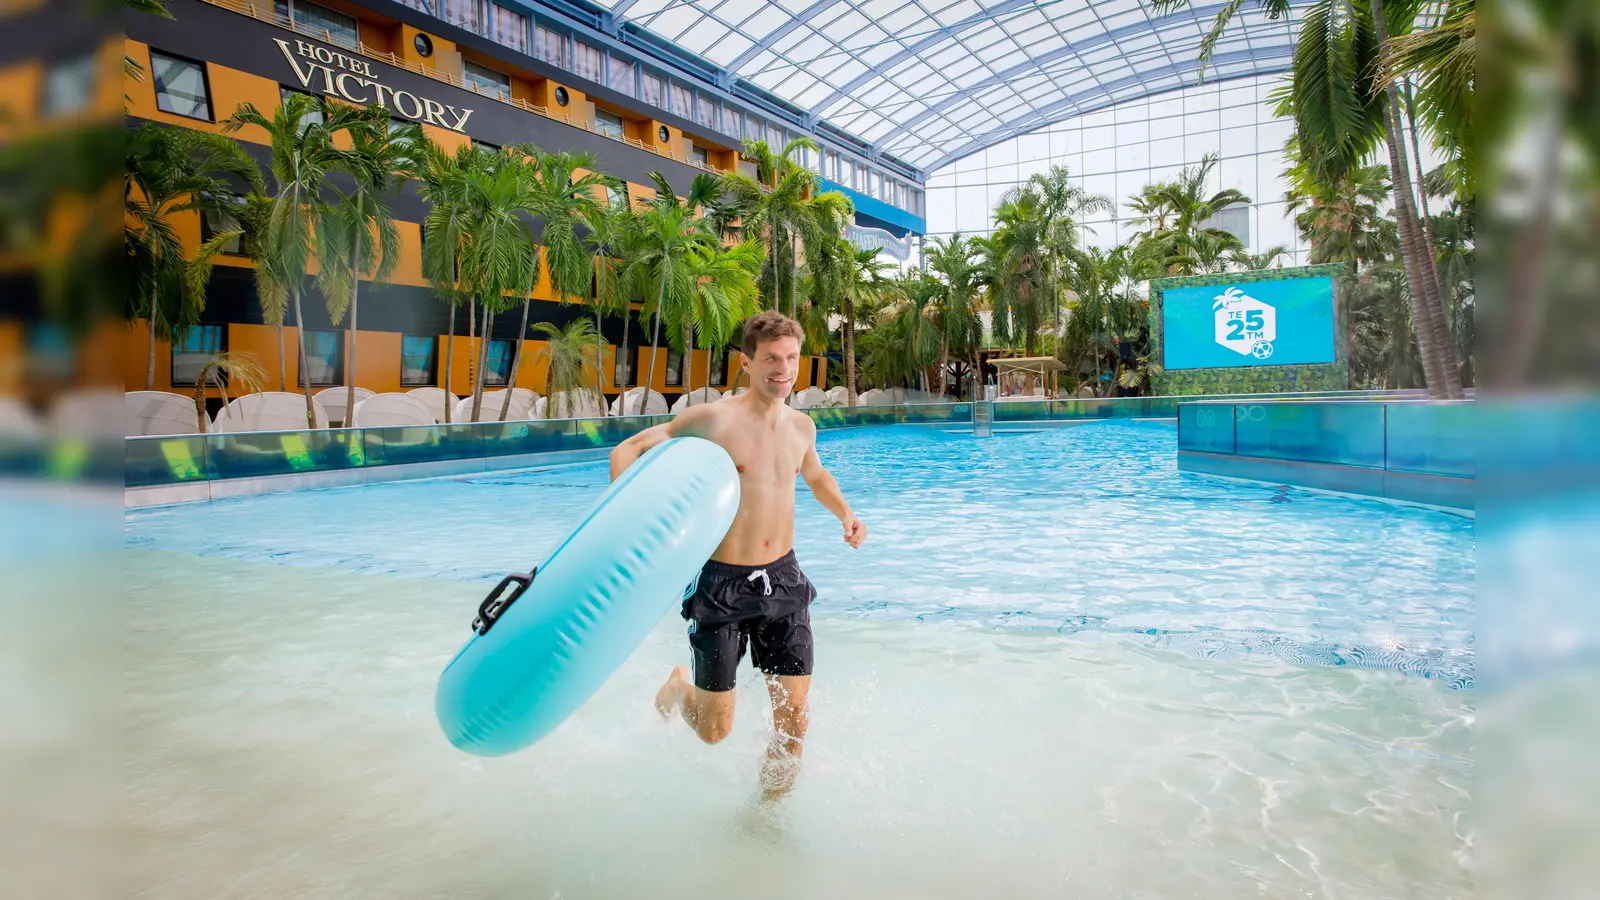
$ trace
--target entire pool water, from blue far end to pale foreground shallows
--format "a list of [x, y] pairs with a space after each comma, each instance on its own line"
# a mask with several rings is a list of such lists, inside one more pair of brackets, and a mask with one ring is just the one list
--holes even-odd
[[1160, 423], [826, 434], [800, 492], [805, 770], [757, 798], [650, 700], [667, 617], [568, 724], [450, 748], [486, 583], [603, 464], [130, 512], [128, 802], [150, 897], [1456, 897], [1472, 890], [1474, 533], [1184, 476]]

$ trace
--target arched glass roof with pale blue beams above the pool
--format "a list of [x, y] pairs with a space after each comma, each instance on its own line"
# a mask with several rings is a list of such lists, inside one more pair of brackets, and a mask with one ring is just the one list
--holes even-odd
[[[1221, 3], [1141, 0], [598, 0], [619, 21], [923, 171], [1050, 122], [1198, 80]], [[1242, 5], [1206, 80], [1283, 70], [1294, 14]]]

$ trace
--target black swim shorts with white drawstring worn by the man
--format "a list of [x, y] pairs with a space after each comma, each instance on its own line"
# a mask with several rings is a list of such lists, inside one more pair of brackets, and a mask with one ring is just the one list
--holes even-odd
[[746, 644], [766, 674], [811, 674], [813, 599], [794, 551], [766, 565], [707, 562], [683, 597], [694, 687], [733, 690]]

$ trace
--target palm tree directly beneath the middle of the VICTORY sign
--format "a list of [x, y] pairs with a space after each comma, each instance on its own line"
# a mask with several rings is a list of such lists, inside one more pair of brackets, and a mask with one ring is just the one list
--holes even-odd
[[418, 125], [389, 119], [389, 110], [381, 106], [363, 109], [344, 133], [349, 135], [350, 149], [339, 152], [336, 167], [350, 178], [352, 187], [346, 191], [334, 183], [338, 200], [330, 223], [338, 224], [338, 229], [330, 229], [318, 239], [318, 256], [325, 259], [318, 277], [333, 323], [338, 325], [344, 317], [346, 306], [350, 312], [346, 328], [349, 356], [344, 364], [344, 410], [349, 416], [355, 412], [357, 299], [362, 274], [371, 272], [373, 283], [381, 283], [400, 264], [400, 229], [389, 200], [418, 171], [427, 138]]

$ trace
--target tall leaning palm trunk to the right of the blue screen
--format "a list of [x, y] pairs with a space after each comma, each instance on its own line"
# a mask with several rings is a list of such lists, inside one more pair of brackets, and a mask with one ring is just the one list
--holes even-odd
[[[1371, 0], [1373, 24], [1378, 43], [1389, 42], [1389, 26], [1384, 19], [1384, 0]], [[1400, 226], [1400, 247], [1406, 263], [1406, 280], [1411, 287], [1411, 317], [1416, 323], [1416, 343], [1427, 378], [1427, 394], [1432, 399], [1456, 400], [1461, 391], [1461, 370], [1456, 365], [1454, 346], [1445, 327], [1443, 303], [1438, 295], [1438, 272], [1434, 267], [1432, 247], [1422, 245], [1422, 229], [1416, 207], [1411, 205], [1411, 175], [1405, 159], [1405, 131], [1400, 127], [1400, 90], [1390, 80], [1384, 85], [1386, 131], [1389, 170], [1394, 179], [1395, 219]]]

